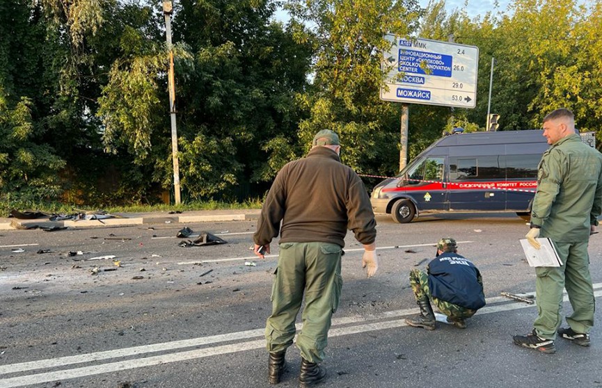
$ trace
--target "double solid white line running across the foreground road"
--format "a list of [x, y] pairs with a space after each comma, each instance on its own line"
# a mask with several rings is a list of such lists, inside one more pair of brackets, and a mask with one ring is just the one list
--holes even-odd
[[[602, 283], [594, 284], [594, 296], [596, 298], [602, 296], [602, 289], [599, 289], [601, 287]], [[523, 293], [519, 295], [528, 296], [533, 294], [534, 293]], [[568, 301], [568, 297], [566, 296], [566, 294], [564, 296], [564, 301]], [[534, 305], [508, 300], [507, 298], [503, 297], [488, 298], [487, 303], [488, 305], [480, 309], [477, 314], [491, 314], [496, 312], [505, 312], [515, 309], [534, 307]], [[496, 303], [498, 303], [498, 305], [495, 305]], [[374, 316], [370, 316], [370, 318], [366, 318], [364, 316], [349, 316], [335, 318], [333, 319], [333, 328], [331, 328], [331, 330], [328, 332], [328, 337], [338, 337], [342, 335], [357, 334], [361, 332], [400, 328], [407, 325], [404, 321], [404, 316], [416, 314], [417, 312], [418, 309], [414, 308], [383, 312]], [[381, 319], [393, 320], [379, 322], [379, 320]], [[337, 327], [341, 325], [349, 325], [352, 323], [360, 324], [354, 326]], [[298, 328], [299, 326], [300, 325], [297, 325]], [[42, 359], [33, 362], [22, 362], [19, 364], [3, 365], [0, 366], [0, 377], [1, 375], [8, 373], [19, 373], [24, 371], [32, 371], [35, 369], [58, 369], [61, 366], [67, 366], [72, 364], [81, 364], [85, 362], [99, 362], [102, 359], [116, 359], [120, 357], [138, 356], [138, 358], [135, 359], [125, 359], [122, 361], [109, 362], [106, 364], [96, 364], [74, 369], [63, 369], [58, 371], [5, 378], [3, 380], [0, 380], [0, 388], [23, 387], [26, 385], [42, 384], [44, 382], [52, 382], [56, 380], [81, 378], [88, 375], [111, 373], [114, 371], [125, 371], [127, 369], [136, 369], [144, 366], [166, 364], [169, 362], [179, 362], [187, 359], [197, 359], [227, 353], [237, 353], [244, 350], [260, 349], [265, 347], [265, 340], [263, 338], [251, 341], [241, 341], [238, 343], [230, 343], [228, 345], [212, 346], [203, 349], [174, 351], [172, 353], [167, 353], [164, 355], [143, 357], [143, 355], [145, 354], [155, 353], [159, 351], [177, 350], [181, 348], [189, 348], [191, 346], [202, 346], [210, 343], [220, 343], [224, 341], [262, 337], [263, 332], [263, 329], [246, 330], [244, 332], [219, 334], [215, 336], [200, 337], [196, 339], [187, 339], [182, 341], [172, 341], [166, 343], [154, 343], [147, 346], [136, 346], [133, 348], [107, 350], [105, 352], [88, 353], [86, 355], [58, 357], [54, 359]]]

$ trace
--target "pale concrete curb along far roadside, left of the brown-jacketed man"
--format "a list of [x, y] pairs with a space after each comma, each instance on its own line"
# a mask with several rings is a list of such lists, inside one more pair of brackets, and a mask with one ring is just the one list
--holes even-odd
[[35, 225], [39, 227], [106, 227], [143, 224], [171, 224], [171, 223], [209, 223], [223, 221], [249, 221], [257, 220], [259, 213], [251, 214], [205, 214], [196, 216], [143, 216], [132, 218], [106, 218], [104, 220], [80, 220], [80, 221], [49, 221], [47, 218], [35, 220], [0, 220], [0, 230], [27, 229]]

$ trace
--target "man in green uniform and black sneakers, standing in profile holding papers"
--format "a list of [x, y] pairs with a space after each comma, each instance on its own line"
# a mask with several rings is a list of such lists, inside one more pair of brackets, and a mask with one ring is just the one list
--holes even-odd
[[[594, 325], [587, 245], [602, 211], [602, 154], [581, 141], [573, 113], [566, 108], [544, 118], [544, 136], [551, 147], [539, 162], [531, 228], [526, 237], [537, 249], [537, 237], [548, 237], [562, 266], [535, 268], [537, 319], [532, 332], [514, 336], [514, 343], [555, 353], [556, 334], [589, 346], [589, 330]], [[573, 314], [567, 316], [569, 328], [560, 328], [563, 288], [573, 307]]]

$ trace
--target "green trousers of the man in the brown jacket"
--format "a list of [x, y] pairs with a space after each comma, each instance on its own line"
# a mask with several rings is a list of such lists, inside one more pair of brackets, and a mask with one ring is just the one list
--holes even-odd
[[303, 327], [296, 339], [301, 357], [322, 362], [331, 318], [342, 287], [342, 248], [333, 243], [281, 243], [271, 291], [272, 312], [265, 325], [267, 350], [278, 353], [292, 345], [296, 316]]

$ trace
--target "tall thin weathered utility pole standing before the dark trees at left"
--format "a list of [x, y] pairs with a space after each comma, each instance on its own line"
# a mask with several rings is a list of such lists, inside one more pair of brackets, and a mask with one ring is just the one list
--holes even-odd
[[173, 47], [171, 44], [171, 14], [173, 4], [171, 0], [163, 1], [163, 14], [165, 15], [165, 33], [167, 37], [167, 48], [169, 50], [169, 113], [171, 116], [171, 152], [173, 156], [173, 193], [175, 204], [180, 204], [180, 163], [177, 161], [177, 129], [175, 128], [175, 82], [173, 76]]

